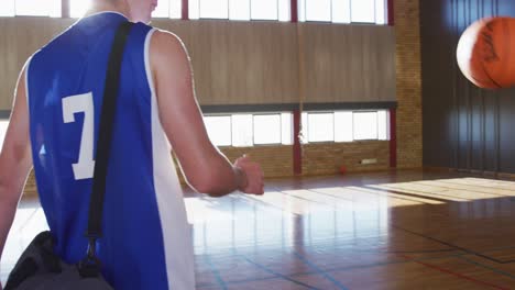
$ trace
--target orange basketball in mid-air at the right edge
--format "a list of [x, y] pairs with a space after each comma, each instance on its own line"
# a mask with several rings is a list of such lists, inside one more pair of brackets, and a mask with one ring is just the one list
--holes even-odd
[[515, 19], [482, 19], [461, 35], [457, 49], [461, 72], [486, 89], [515, 85]]

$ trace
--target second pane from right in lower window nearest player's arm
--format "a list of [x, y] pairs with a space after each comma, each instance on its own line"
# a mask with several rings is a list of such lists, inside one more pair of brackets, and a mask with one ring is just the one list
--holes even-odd
[[281, 115], [254, 115], [254, 144], [281, 144]]

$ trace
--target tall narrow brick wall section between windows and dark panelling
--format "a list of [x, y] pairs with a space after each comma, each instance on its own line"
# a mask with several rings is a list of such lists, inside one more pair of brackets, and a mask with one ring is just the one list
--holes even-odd
[[397, 167], [421, 167], [419, 0], [394, 0], [397, 70]]

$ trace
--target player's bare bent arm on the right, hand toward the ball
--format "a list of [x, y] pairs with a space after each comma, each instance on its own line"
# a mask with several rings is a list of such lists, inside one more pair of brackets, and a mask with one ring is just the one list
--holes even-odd
[[189, 57], [180, 40], [156, 31], [150, 52], [161, 123], [188, 183], [217, 197], [237, 189], [263, 193], [263, 172], [258, 164], [242, 157], [232, 166], [209, 141], [195, 98]]

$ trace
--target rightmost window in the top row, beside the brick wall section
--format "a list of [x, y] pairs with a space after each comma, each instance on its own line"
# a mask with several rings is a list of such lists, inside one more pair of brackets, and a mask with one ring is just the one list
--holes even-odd
[[298, 20], [386, 24], [386, 0], [298, 0]]

